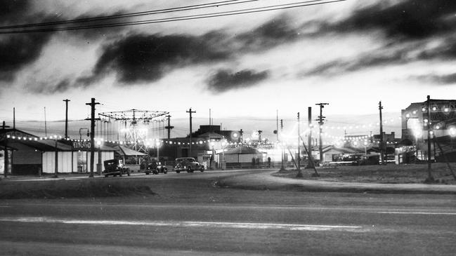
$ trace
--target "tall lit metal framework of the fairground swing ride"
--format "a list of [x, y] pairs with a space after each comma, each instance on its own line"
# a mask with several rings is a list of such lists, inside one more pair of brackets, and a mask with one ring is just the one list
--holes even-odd
[[125, 140], [133, 142], [129, 144], [129, 147], [136, 151], [148, 153], [148, 147], [145, 144], [145, 141], [149, 139], [148, 129], [139, 127], [138, 121], [148, 124], [151, 121], [157, 121], [161, 116], [167, 114], [169, 112], [129, 109], [119, 112], [103, 112], [99, 115], [108, 117], [109, 119], [115, 119], [116, 121], [129, 122], [129, 128], [124, 129]]

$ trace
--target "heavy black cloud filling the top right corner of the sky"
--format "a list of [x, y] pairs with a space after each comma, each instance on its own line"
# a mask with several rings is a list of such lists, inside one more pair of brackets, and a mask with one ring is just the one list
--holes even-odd
[[391, 5], [389, 1], [360, 8], [350, 18], [330, 25], [344, 32], [382, 29], [387, 36], [422, 39], [453, 32], [456, 25], [454, 0], [406, 0]]

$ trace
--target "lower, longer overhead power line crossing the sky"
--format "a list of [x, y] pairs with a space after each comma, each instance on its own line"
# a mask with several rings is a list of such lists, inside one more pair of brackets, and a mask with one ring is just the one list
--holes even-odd
[[52, 27], [52, 28], [48, 28], [48, 29], [9, 30], [9, 31], [1, 31], [0, 34], [57, 32], [57, 31], [68, 31], [68, 30], [78, 30], [78, 29], [95, 29], [95, 28], [105, 28], [105, 27], [123, 27], [123, 26], [131, 26], [131, 25], [145, 25], [145, 24], [152, 24], [152, 23], [173, 22], [173, 21], [182, 21], [182, 20], [197, 20], [197, 19], [202, 19], [202, 18], [216, 18], [216, 17], [229, 16], [229, 15], [260, 13], [260, 12], [265, 12], [265, 11], [277, 11], [277, 10], [284, 10], [284, 9], [289, 9], [289, 8], [299, 8], [299, 7], [304, 7], [304, 6], [316, 6], [316, 5], [321, 5], [321, 4], [337, 3], [337, 2], [341, 2], [341, 1], [348, 1], [348, 0], [302, 1], [302, 2], [297, 2], [297, 3], [292, 3], [292, 4], [278, 4], [278, 5], [274, 5], [274, 6], [245, 8], [245, 9], [240, 9], [240, 10], [235, 10], [235, 11], [224, 11], [224, 12], [219, 12], [219, 13], [206, 13], [206, 14], [199, 14], [199, 15], [186, 15], [186, 16], [181, 16], [181, 17], [161, 18], [161, 19], [155, 19], [155, 20], [139, 20], [139, 21], [133, 21], [133, 22], [118, 22], [118, 23], [86, 25], [86, 26], [77, 26], [77, 27]]

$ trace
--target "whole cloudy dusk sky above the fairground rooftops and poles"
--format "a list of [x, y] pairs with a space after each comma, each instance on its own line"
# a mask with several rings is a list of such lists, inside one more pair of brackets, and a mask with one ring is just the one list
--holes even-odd
[[[231, 2], [109, 22], [298, 1]], [[11, 121], [15, 107], [18, 120], [41, 120], [46, 107], [49, 120], [62, 120], [62, 100], [68, 98], [70, 119], [85, 119], [85, 103], [95, 97], [102, 103], [97, 112], [159, 110], [183, 119], [192, 107], [195, 117], [205, 119], [210, 108], [214, 118], [233, 123], [252, 116], [275, 120], [277, 109], [292, 119], [313, 107], [317, 116], [315, 103], [328, 102], [324, 114], [330, 122], [332, 115], [377, 114], [380, 100], [384, 112], [399, 117], [400, 109], [426, 95], [455, 98], [456, 1], [322, 2], [147, 25], [0, 34], [0, 117]], [[4, 0], [0, 24], [207, 3], [213, 2]]]

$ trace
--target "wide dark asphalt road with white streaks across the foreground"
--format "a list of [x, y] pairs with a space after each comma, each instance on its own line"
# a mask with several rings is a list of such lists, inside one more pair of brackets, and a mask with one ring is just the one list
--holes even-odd
[[150, 196], [2, 200], [0, 254], [455, 255], [455, 195], [214, 186], [249, 173], [110, 178], [146, 180]]

